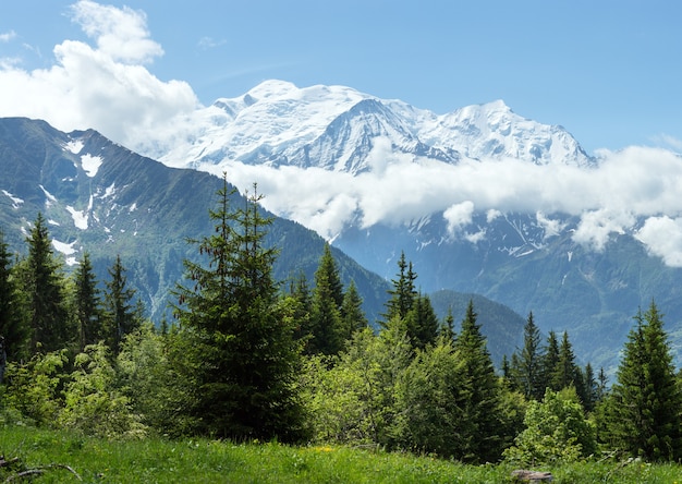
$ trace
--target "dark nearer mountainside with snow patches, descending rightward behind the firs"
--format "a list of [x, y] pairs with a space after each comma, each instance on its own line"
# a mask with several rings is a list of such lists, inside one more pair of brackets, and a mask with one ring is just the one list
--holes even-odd
[[[183, 259], [197, 261], [191, 239], [212, 233], [209, 208], [222, 180], [191, 169], [173, 169], [142, 157], [94, 130], [60, 132], [45, 121], [0, 119], [0, 231], [11, 251], [25, 253], [37, 214], [48, 225], [53, 252], [72, 269], [87, 252], [102, 282], [117, 255], [127, 282], [156, 323], [176, 301]], [[234, 194], [233, 206], [243, 206]], [[324, 240], [299, 223], [273, 217], [266, 243], [279, 251], [273, 276], [285, 290], [292, 278], [314, 279]], [[352, 279], [370, 322], [383, 312], [389, 283], [332, 252], [344, 283]], [[198, 261], [197, 261], [198, 262]], [[464, 314], [470, 295], [442, 291], [437, 308]], [[520, 340], [523, 317], [509, 307], [475, 297], [495, 361]]]

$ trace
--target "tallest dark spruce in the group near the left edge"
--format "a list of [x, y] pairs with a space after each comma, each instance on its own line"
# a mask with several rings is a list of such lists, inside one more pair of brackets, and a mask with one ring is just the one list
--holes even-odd
[[71, 339], [71, 331], [61, 265], [54, 258], [42, 214], [38, 214], [27, 243], [22, 290], [31, 327], [29, 351], [47, 353], [64, 348]]

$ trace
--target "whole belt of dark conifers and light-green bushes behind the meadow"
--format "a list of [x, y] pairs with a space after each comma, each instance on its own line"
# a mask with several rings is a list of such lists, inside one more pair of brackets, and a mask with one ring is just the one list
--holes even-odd
[[[334, 443], [524, 464], [604, 452], [682, 457], [680, 377], [651, 301], [634, 318], [617, 380], [581, 367], [568, 332], [543, 341], [533, 313], [523, 347], [495, 368], [473, 302], [440, 320], [404, 253], [374, 329], [328, 245], [313, 283], [272, 277], [278, 251], [257, 186], [230, 204], [155, 326], [117, 257], [103, 287], [85, 253], [66, 277], [40, 214], [27, 255], [0, 237], [0, 422], [108, 437], [208, 435]], [[0, 234], [1, 235], [1, 234]], [[101, 287], [101, 289], [100, 289]]]

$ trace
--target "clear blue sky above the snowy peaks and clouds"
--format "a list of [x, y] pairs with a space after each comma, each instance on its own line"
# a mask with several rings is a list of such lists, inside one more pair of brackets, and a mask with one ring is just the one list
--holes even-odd
[[[0, 4], [0, 86], [8, 69], [35, 78], [36, 70], [52, 68], [53, 49], [65, 40], [95, 47], [97, 36], [87, 35], [88, 20], [77, 21], [73, 4]], [[563, 125], [589, 153], [629, 145], [682, 150], [680, 2], [100, 4], [144, 12], [138, 27], [158, 51], [124, 63], [138, 63], [161, 83], [186, 82], [204, 105], [267, 78], [348, 85], [437, 113], [503, 99], [523, 117]], [[12, 112], [0, 108], [0, 116]]]

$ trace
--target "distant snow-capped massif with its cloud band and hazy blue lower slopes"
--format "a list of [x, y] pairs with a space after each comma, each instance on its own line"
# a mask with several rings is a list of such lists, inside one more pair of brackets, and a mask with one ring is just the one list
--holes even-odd
[[682, 203], [671, 181], [682, 180], [682, 159], [672, 153], [592, 157], [563, 128], [501, 100], [437, 114], [281, 81], [198, 109], [149, 146], [141, 149], [172, 167], [258, 182], [268, 209], [385, 278], [404, 251], [424, 291], [533, 311], [595, 364], [612, 367], [651, 298], [682, 320]]

